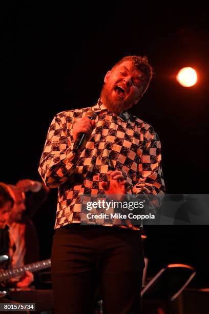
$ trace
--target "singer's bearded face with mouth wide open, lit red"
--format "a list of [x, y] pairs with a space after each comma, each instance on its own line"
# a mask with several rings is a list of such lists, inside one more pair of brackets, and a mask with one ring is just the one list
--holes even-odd
[[115, 113], [131, 108], [141, 98], [145, 74], [125, 61], [108, 71], [101, 91], [101, 100]]

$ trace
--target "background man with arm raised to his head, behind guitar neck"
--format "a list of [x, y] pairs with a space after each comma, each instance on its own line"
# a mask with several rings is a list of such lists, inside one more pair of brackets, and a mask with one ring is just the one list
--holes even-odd
[[[16, 186], [10, 185], [10, 188], [15, 200], [8, 221], [10, 242], [14, 248], [10, 256], [12, 267], [16, 268], [39, 261], [38, 237], [31, 217], [47, 199], [49, 189], [44, 184], [29, 179], [20, 180]], [[27, 198], [26, 192], [30, 193]], [[23, 284], [30, 285], [33, 274], [28, 273], [25, 280]]]

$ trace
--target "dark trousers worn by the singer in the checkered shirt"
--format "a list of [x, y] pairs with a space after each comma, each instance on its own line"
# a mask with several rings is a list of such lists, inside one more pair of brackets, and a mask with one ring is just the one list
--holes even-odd
[[92, 313], [99, 285], [103, 313], [138, 314], [143, 267], [138, 230], [79, 224], [56, 229], [52, 247], [55, 313]]

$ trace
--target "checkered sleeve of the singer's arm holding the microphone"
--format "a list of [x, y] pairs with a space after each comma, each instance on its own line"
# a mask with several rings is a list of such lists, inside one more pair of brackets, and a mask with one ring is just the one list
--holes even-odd
[[45, 184], [56, 188], [75, 171], [78, 154], [73, 154], [72, 117], [67, 121], [65, 112], [57, 114], [48, 131], [38, 172]]

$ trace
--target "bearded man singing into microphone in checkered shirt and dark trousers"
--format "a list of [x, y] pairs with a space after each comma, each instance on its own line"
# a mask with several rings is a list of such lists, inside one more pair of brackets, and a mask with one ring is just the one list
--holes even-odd
[[[103, 313], [140, 312], [141, 227], [114, 219], [88, 224], [82, 195], [162, 197], [158, 135], [127, 111], [138, 104], [152, 74], [147, 57], [123, 57], [107, 72], [95, 106], [60, 112], [49, 128], [39, 173], [48, 187], [59, 188], [52, 248], [57, 314], [91, 313], [97, 284]], [[86, 116], [90, 110], [94, 120]], [[86, 138], [79, 147], [80, 133]]]

